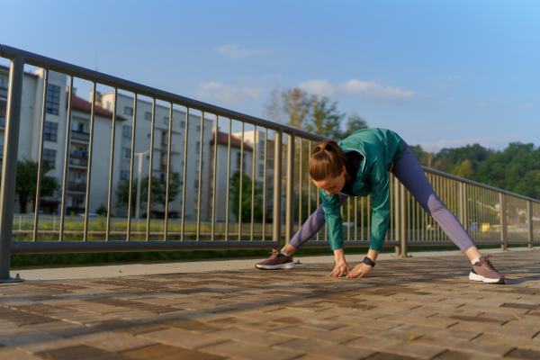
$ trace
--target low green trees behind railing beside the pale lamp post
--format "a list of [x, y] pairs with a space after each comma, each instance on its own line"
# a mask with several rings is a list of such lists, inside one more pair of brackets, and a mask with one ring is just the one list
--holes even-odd
[[[137, 209], [137, 184], [139, 179], [133, 179], [131, 184], [131, 215], [135, 215]], [[171, 173], [169, 181], [169, 202], [174, 202], [182, 180], [178, 173]], [[116, 188], [117, 206], [127, 206], [130, 202], [130, 180], [122, 180]], [[166, 199], [166, 180], [161, 180], [157, 176], [152, 176], [152, 193], [150, 205], [165, 204]], [[148, 176], [140, 181], [140, 203], [148, 203]]]

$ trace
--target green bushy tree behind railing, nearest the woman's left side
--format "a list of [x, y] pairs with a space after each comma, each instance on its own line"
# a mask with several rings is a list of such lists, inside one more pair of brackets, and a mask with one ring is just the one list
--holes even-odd
[[[242, 222], [251, 222], [251, 190], [252, 190], [251, 177], [246, 175], [242, 176]], [[254, 221], [263, 221], [263, 184], [255, 181], [255, 204]], [[237, 171], [230, 178], [230, 206], [231, 209], [239, 219], [240, 211], [240, 172]]]

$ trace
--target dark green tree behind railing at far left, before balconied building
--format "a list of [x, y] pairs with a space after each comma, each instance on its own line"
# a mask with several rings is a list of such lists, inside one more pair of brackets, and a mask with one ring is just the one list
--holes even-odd
[[[29, 199], [35, 199], [37, 184], [38, 184], [38, 170], [40, 165], [36, 161], [24, 159], [23, 161], [17, 161], [17, 181], [15, 183], [15, 197], [19, 201], [21, 212], [26, 212], [26, 206]], [[60, 184], [56, 177], [47, 176], [46, 174], [52, 168], [44, 165], [41, 173], [41, 190], [40, 199], [44, 197], [54, 196]]]

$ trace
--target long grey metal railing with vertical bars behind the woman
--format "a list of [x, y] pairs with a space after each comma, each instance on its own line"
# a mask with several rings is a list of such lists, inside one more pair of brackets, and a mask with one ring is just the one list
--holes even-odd
[[[288, 242], [294, 231], [302, 226], [305, 221], [318, 206], [320, 206], [320, 196], [318, 189], [309, 181], [307, 176], [308, 162], [311, 150], [314, 145], [322, 139], [320, 136], [293, 129], [271, 121], [265, 121], [253, 116], [248, 116], [239, 112], [232, 112], [228, 109], [213, 106], [208, 103], [198, 102], [183, 96], [167, 93], [145, 85], [139, 85], [118, 77], [108, 76], [84, 67], [76, 67], [65, 62], [52, 58], [45, 58], [21, 49], [14, 49], [5, 45], [0, 45], [0, 57], [8, 58], [11, 61], [9, 94], [7, 100], [7, 121], [4, 130], [4, 161], [2, 167], [2, 187], [0, 189], [0, 281], [9, 279], [10, 257], [13, 254], [36, 254], [36, 253], [68, 253], [68, 252], [112, 252], [112, 251], [166, 251], [166, 250], [199, 250], [199, 249], [232, 249], [232, 248], [271, 248], [279, 247], [282, 238]], [[14, 216], [14, 189], [17, 166], [17, 153], [19, 148], [19, 127], [21, 122], [21, 104], [23, 96], [23, 67], [24, 64], [41, 67], [44, 69], [43, 75], [43, 97], [41, 107], [41, 130], [40, 130], [40, 150], [39, 163], [43, 162], [43, 137], [46, 117], [47, 88], [49, 71], [55, 71], [68, 76], [69, 85], [67, 87], [67, 129], [65, 144], [64, 171], [61, 184], [62, 201], [59, 216], [40, 215], [40, 186], [41, 168], [39, 166], [38, 184], [35, 197], [35, 212], [33, 215]], [[74, 78], [90, 81], [93, 85], [93, 96], [90, 99], [90, 133], [88, 135], [88, 158], [86, 166], [85, 183], [77, 184], [77, 190], [81, 193], [77, 196], [85, 197], [85, 216], [67, 216], [67, 190], [72, 186], [68, 184], [69, 172], [69, 146], [70, 136], [75, 134], [71, 131], [72, 123], [72, 96]], [[103, 218], [91, 218], [89, 214], [89, 199], [96, 194], [91, 193], [91, 179], [94, 156], [94, 121], [95, 121], [95, 94], [96, 85], [107, 85], [113, 88], [112, 103], [112, 133], [109, 161], [109, 181], [107, 194], [107, 215]], [[149, 146], [149, 166], [148, 166], [148, 198], [147, 214], [151, 214], [156, 209], [152, 208], [152, 171], [154, 164], [154, 152], [160, 154], [160, 148], [155, 147], [156, 109], [157, 102], [168, 103], [168, 139], [166, 142], [166, 166], [160, 166], [160, 170], [166, 172], [166, 195], [162, 208], [158, 211], [163, 213], [164, 219], [133, 219], [131, 216], [132, 204], [135, 202], [135, 195], [129, 194], [127, 206], [128, 216], [125, 219], [112, 218], [112, 193], [113, 173], [118, 171], [114, 164], [114, 148], [117, 99], [118, 91], [133, 94], [133, 112], [131, 119], [131, 156], [130, 156], [130, 176], [129, 189], [133, 189], [133, 167], [135, 158], [135, 130], [137, 124], [137, 106], [139, 96], [148, 96], [152, 100], [152, 118], [150, 129]], [[173, 119], [173, 106], [184, 107], [185, 119]], [[187, 134], [193, 122], [193, 111], [201, 112], [201, 131], [198, 139], [188, 139]], [[220, 126], [228, 127], [227, 152], [227, 181], [225, 193], [220, 193], [217, 181], [220, 175], [217, 172], [221, 165], [218, 160], [218, 134], [215, 134], [216, 141], [213, 149], [208, 149], [208, 153], [213, 153], [210, 166], [213, 174], [207, 179], [202, 178], [202, 168], [197, 172], [199, 186], [197, 196], [193, 205], [186, 204], [186, 193], [192, 188], [187, 188], [186, 179], [189, 176], [187, 170], [188, 152], [193, 153], [198, 158], [199, 164], [203, 164], [204, 128], [205, 119], [212, 115], [215, 117], [215, 129]], [[181, 175], [182, 191], [181, 214], [179, 220], [169, 219], [169, 184], [171, 176], [171, 148], [173, 121], [181, 121], [184, 132], [183, 148], [183, 170]], [[264, 143], [263, 180], [262, 184], [256, 183], [257, 159], [260, 157], [259, 146], [253, 146], [251, 151], [251, 171], [239, 172], [238, 192], [238, 219], [236, 222], [230, 219], [231, 200], [233, 194], [230, 193], [229, 180], [232, 178], [233, 168], [231, 167], [231, 147], [232, 147], [232, 121], [238, 121], [240, 126], [239, 164], [245, 164], [246, 150], [246, 124], [253, 129], [254, 143]], [[216, 131], [217, 132], [217, 131]], [[258, 134], [258, 135], [257, 135]], [[103, 136], [103, 134], [100, 134]], [[257, 139], [257, 136], [259, 139]], [[286, 137], [286, 141], [284, 141]], [[236, 139], [235, 139], [236, 140]], [[188, 143], [197, 141], [200, 148], [190, 149]], [[182, 146], [178, 145], [178, 146]], [[255, 145], [255, 144], [252, 144]], [[120, 145], [118, 145], [120, 146]], [[211, 154], [209, 154], [211, 155]], [[220, 157], [222, 158], [222, 157]], [[273, 159], [273, 168], [268, 168], [268, 159]], [[96, 158], [95, 161], [103, 163], [105, 158]], [[193, 160], [193, 157], [192, 157]], [[141, 164], [139, 157], [139, 164]], [[221, 161], [221, 160], [220, 160]], [[234, 164], [234, 160], [232, 161]], [[140, 168], [139, 168], [140, 170]], [[191, 170], [191, 169], [190, 169]], [[77, 171], [81, 171], [78, 169]], [[540, 202], [520, 196], [514, 193], [502, 191], [484, 184], [474, 183], [469, 180], [448, 175], [436, 170], [424, 168], [431, 184], [439, 195], [446, 202], [451, 211], [468, 229], [473, 240], [478, 244], [500, 245], [506, 249], [509, 244], [534, 244], [534, 235], [538, 233], [540, 218]], [[244, 194], [244, 184], [247, 175], [251, 177], [251, 193]], [[268, 180], [270, 176], [270, 180]], [[192, 176], [193, 179], [193, 176]], [[193, 183], [192, 183], [193, 184]], [[204, 187], [202, 187], [204, 184]], [[210, 185], [211, 184], [211, 185]], [[272, 184], [272, 191], [268, 192], [269, 184]], [[138, 184], [140, 188], [140, 182]], [[258, 186], [258, 187], [257, 187]], [[202, 202], [202, 193], [206, 188], [211, 189], [208, 202]], [[258, 189], [258, 190], [256, 190]], [[283, 192], [283, 189], [285, 191]], [[407, 256], [407, 247], [415, 245], [446, 245], [451, 242], [446, 237], [444, 231], [432, 218], [428, 217], [418, 202], [410, 196], [403, 185], [391, 175], [391, 199], [392, 212], [390, 227], [387, 233], [385, 246], [396, 247], [396, 253]], [[269, 198], [267, 193], [271, 193], [273, 198]], [[218, 195], [223, 200], [225, 221], [216, 221], [216, 207]], [[257, 196], [256, 196], [257, 195]], [[247, 197], [250, 201], [244, 202]], [[138, 196], [137, 196], [138, 197]], [[220, 198], [221, 199], [221, 198]], [[282, 201], [284, 203], [282, 206]], [[256, 202], [260, 206], [262, 214], [255, 215]], [[261, 203], [262, 202], [262, 203]], [[139, 201], [137, 202], [139, 209]], [[250, 211], [247, 211], [248, 221], [243, 221], [242, 209], [250, 204]], [[267, 211], [268, 205], [272, 205], [271, 214]], [[187, 220], [187, 211], [196, 209], [196, 221]], [[202, 211], [206, 210], [206, 214]], [[284, 215], [284, 217], [283, 217]], [[342, 215], [346, 229], [346, 247], [367, 247], [371, 233], [371, 198], [349, 198], [342, 208]], [[209, 221], [205, 219], [210, 219]], [[282, 221], [284, 228], [282, 229]], [[272, 221], [270, 223], [270, 221]], [[52, 222], [52, 223], [51, 223]], [[18, 239], [13, 241], [13, 235]], [[66, 240], [65, 234], [70, 238]], [[49, 240], [48, 236], [58, 236], [57, 241]], [[71, 237], [76, 236], [76, 238]], [[94, 238], [94, 235], [97, 237]], [[29, 237], [21, 239], [22, 236]], [[40, 240], [40, 236], [46, 238]], [[100, 239], [103, 238], [103, 239]], [[159, 238], [159, 239], [157, 239]], [[271, 238], [267, 240], [266, 238]], [[328, 247], [328, 232], [326, 228], [317, 234], [316, 238], [305, 244], [305, 247]]]

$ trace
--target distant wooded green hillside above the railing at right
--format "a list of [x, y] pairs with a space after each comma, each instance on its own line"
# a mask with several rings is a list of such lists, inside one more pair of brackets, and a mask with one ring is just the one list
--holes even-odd
[[437, 153], [411, 149], [423, 166], [540, 200], [540, 147], [534, 144], [511, 142], [502, 151], [479, 144]]

